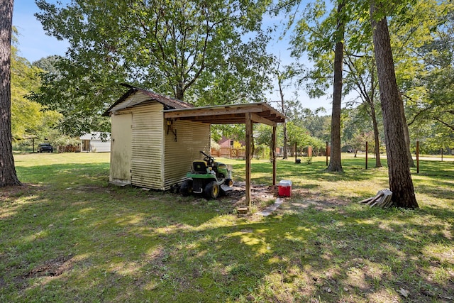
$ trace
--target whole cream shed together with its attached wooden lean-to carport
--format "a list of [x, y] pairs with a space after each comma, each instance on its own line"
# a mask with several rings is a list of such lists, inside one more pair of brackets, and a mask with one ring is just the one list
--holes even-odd
[[[253, 123], [273, 127], [284, 115], [265, 102], [194, 108], [145, 89], [129, 88], [105, 113], [111, 116], [110, 182], [150, 189], [170, 189], [190, 170], [199, 150], [209, 153], [211, 124], [245, 123], [246, 203], [250, 204], [250, 154]], [[276, 184], [276, 158], [272, 159]]]

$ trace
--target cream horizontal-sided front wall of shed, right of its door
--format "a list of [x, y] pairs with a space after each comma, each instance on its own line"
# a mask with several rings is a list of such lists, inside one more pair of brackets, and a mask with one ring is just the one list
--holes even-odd
[[132, 184], [162, 189], [162, 104], [133, 109]]

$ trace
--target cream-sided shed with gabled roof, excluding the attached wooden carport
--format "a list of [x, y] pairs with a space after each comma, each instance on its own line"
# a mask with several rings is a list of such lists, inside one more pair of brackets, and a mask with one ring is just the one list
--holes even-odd
[[167, 190], [181, 182], [200, 158], [209, 153], [210, 125], [164, 119], [167, 109], [191, 104], [123, 84], [129, 90], [104, 115], [111, 116], [109, 182]]

